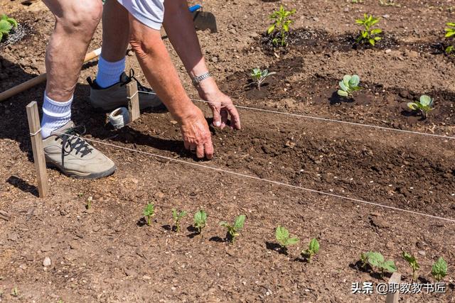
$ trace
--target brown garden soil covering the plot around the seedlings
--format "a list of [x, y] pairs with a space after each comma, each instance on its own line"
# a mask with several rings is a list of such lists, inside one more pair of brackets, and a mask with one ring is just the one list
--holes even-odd
[[[0, 4], [31, 29], [22, 40], [0, 45], [3, 92], [44, 72], [53, 17], [41, 1]], [[241, 131], [211, 129], [212, 161], [198, 161], [183, 148], [178, 125], [167, 113], [146, 112], [119, 131], [109, 128], [106, 116], [87, 101], [83, 79], [94, 77], [95, 60], [82, 70], [73, 120], [87, 128], [89, 140], [143, 153], [94, 143], [116, 162], [117, 172], [88, 181], [48, 170], [50, 195], [38, 199], [24, 107], [34, 99], [41, 104], [44, 86], [1, 102], [0, 301], [383, 302], [378, 294], [351, 294], [353, 282], [377, 284], [390, 277], [360, 268], [360, 253], [380, 251], [395, 260], [403, 282], [411, 282], [401, 258], [406, 250], [419, 260], [419, 281], [433, 282], [429, 272], [439, 256], [449, 272], [445, 294], [405, 294], [402, 301], [455, 302], [454, 223], [192, 165], [454, 219], [453, 139], [311, 119], [455, 136], [455, 65], [441, 52], [446, 41], [437, 38], [453, 18], [450, 2], [401, 4], [398, 9], [378, 1], [288, 1], [287, 8], [297, 10], [296, 31], [282, 51], [264, 46], [257, 34], [279, 4], [204, 3], [205, 11], [215, 13], [219, 33], [198, 35], [223, 91], [240, 106], [302, 115], [240, 109]], [[354, 19], [365, 12], [389, 15], [380, 23], [384, 45], [353, 48]], [[90, 49], [100, 46], [101, 33], [99, 28]], [[188, 94], [196, 97], [167, 40], [166, 45]], [[127, 57], [129, 67], [144, 82], [134, 57]], [[248, 85], [253, 67], [277, 74], [259, 90]], [[352, 99], [336, 95], [345, 74], [360, 75], [363, 89]], [[434, 98], [435, 109], [425, 120], [405, 106], [421, 94]], [[210, 123], [210, 111], [199, 105]], [[149, 202], [156, 204], [151, 226], [142, 217]], [[173, 208], [188, 211], [181, 233], [173, 231]], [[202, 235], [192, 228], [198, 209], [208, 212]], [[228, 243], [219, 222], [238, 214], [247, 216], [245, 228]], [[301, 242], [279, 248], [277, 225]], [[300, 252], [311, 238], [319, 239], [321, 250], [306, 263]], [[43, 267], [46, 257], [52, 264]]]

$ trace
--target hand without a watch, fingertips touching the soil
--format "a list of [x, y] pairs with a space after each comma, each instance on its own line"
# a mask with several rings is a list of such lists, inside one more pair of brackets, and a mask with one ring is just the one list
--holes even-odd
[[213, 158], [212, 137], [202, 111], [193, 106], [181, 119], [180, 124], [185, 148], [196, 152], [199, 159], [204, 158], [204, 155], [208, 160]]

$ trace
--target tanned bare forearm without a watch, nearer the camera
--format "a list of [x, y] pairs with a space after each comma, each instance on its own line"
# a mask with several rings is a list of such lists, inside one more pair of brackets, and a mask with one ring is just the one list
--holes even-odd
[[147, 81], [172, 116], [181, 121], [191, 114], [194, 104], [181, 85], [159, 31], [146, 28], [136, 20], [130, 22], [134, 28], [130, 44]]

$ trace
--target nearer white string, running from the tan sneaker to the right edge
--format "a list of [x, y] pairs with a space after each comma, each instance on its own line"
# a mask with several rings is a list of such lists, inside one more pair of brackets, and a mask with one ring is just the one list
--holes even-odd
[[[74, 135], [70, 135], [70, 134], [67, 134], [67, 133], [59, 133], [59, 134], [65, 135], [65, 136], [73, 136], [74, 137]], [[217, 172], [225, 172], [225, 173], [230, 174], [230, 175], [236, 175], [236, 176], [239, 176], [239, 177], [246, 177], [246, 178], [250, 178], [250, 179], [253, 179], [253, 180], [259, 180], [259, 181], [269, 182], [269, 183], [272, 183], [272, 184], [281, 185], [281, 186], [284, 186], [284, 187], [291, 187], [291, 188], [294, 188], [294, 189], [301, 189], [301, 190], [304, 190], [306, 192], [313, 192], [315, 194], [323, 194], [323, 195], [326, 195], [326, 196], [336, 197], [336, 198], [339, 198], [339, 199], [346, 199], [346, 200], [349, 200], [349, 201], [352, 201], [352, 202], [358, 202], [358, 203], [362, 203], [362, 204], [378, 206], [378, 207], [382, 207], [382, 208], [385, 208], [385, 209], [392, 209], [392, 210], [395, 210], [395, 211], [402, 211], [402, 212], [407, 212], [409, 214], [417, 214], [419, 216], [427, 216], [427, 217], [432, 218], [432, 219], [439, 219], [439, 220], [444, 220], [444, 221], [449, 221], [451, 223], [455, 223], [454, 219], [444, 218], [444, 217], [441, 217], [441, 216], [433, 216], [431, 214], [424, 214], [424, 213], [420, 213], [420, 212], [417, 212], [417, 211], [410, 211], [410, 210], [407, 210], [407, 209], [400, 209], [400, 208], [394, 207], [394, 206], [388, 206], [388, 205], [384, 205], [384, 204], [368, 202], [368, 201], [364, 201], [364, 200], [361, 200], [361, 199], [355, 199], [355, 198], [350, 198], [350, 197], [346, 197], [346, 196], [341, 196], [341, 195], [338, 195], [338, 194], [332, 194], [332, 193], [329, 193], [329, 192], [322, 192], [322, 191], [316, 190], [316, 189], [309, 189], [309, 188], [299, 187], [299, 186], [296, 186], [296, 185], [283, 183], [283, 182], [279, 182], [279, 181], [262, 179], [260, 177], [255, 177], [255, 176], [251, 176], [251, 175], [245, 175], [245, 174], [242, 174], [240, 172], [232, 172], [230, 170], [223, 170], [223, 169], [218, 168], [218, 167], [210, 167], [210, 166], [202, 165], [202, 164], [199, 164], [199, 163], [193, 163], [193, 162], [188, 162], [188, 161], [184, 161], [184, 160], [180, 160], [180, 159], [169, 158], [169, 157], [166, 157], [164, 155], [156, 155], [154, 153], [147, 153], [147, 152], [144, 152], [142, 150], [135, 150], [133, 148], [126, 148], [126, 147], [123, 147], [123, 146], [114, 145], [112, 143], [106, 143], [106, 142], [97, 141], [97, 140], [88, 139], [88, 138], [83, 138], [83, 139], [85, 141], [91, 141], [91, 142], [95, 142], [95, 143], [100, 143], [100, 144], [103, 144], [103, 145], [112, 146], [114, 148], [120, 148], [120, 149], [123, 149], [123, 150], [129, 150], [129, 151], [132, 151], [132, 152], [135, 152], [135, 153], [141, 153], [141, 154], [144, 154], [144, 155], [151, 155], [151, 156], [153, 156], [155, 158], [161, 158], [161, 159], [166, 159], [166, 160], [173, 161], [173, 162], [179, 162], [179, 163], [183, 163], [183, 164], [188, 164], [188, 165], [193, 165], [193, 166], [197, 166], [197, 167], [202, 167], [202, 168], [205, 168], [205, 169], [208, 169], [208, 170], [215, 170]]]

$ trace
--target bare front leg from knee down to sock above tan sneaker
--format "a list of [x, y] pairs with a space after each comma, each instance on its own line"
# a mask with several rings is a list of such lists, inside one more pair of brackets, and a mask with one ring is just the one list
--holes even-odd
[[73, 96], [85, 53], [100, 22], [100, 0], [43, 0], [55, 16], [45, 56], [46, 93], [55, 101]]

